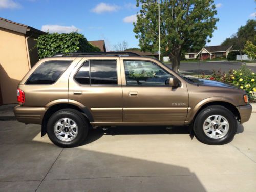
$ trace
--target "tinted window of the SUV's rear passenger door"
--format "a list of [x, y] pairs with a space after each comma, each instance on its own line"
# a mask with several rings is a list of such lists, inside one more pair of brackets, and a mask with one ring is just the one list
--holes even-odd
[[75, 75], [80, 84], [117, 84], [116, 60], [90, 60], [83, 63]]

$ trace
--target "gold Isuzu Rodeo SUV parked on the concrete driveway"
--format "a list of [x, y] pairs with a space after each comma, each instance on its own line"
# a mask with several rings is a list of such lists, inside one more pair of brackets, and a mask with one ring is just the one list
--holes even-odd
[[191, 125], [201, 142], [224, 144], [252, 110], [235, 86], [182, 77], [129, 52], [41, 59], [19, 83], [17, 100], [17, 120], [41, 124], [41, 135], [60, 147], [83, 143], [91, 126], [118, 125]]

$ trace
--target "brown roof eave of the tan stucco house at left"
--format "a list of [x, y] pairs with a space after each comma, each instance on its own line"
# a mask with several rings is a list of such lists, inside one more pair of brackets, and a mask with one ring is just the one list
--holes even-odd
[[22, 33], [25, 36], [38, 37], [39, 35], [46, 34], [46, 32], [44, 31], [40, 31], [28, 25], [12, 22], [11, 20], [7, 20], [1, 17], [0, 17], [0, 28]]

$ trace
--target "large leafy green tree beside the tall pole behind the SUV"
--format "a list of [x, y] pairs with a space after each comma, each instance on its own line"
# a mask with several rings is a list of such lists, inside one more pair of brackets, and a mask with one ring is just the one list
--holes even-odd
[[[142, 51], [158, 51], [158, 0], [137, 0], [141, 6], [134, 32]], [[213, 0], [160, 1], [161, 53], [169, 56], [178, 72], [181, 53], [201, 49], [210, 42], [219, 20]]]

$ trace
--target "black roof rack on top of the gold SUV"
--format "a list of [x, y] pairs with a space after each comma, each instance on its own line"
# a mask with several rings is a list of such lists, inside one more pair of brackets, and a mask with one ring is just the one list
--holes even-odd
[[133, 53], [133, 52], [88, 52], [88, 53], [82, 53], [82, 52], [75, 52], [75, 53], [57, 53], [53, 57], [78, 57], [78, 56], [103, 56], [103, 55], [108, 55], [108, 56], [135, 56], [135, 57], [140, 57], [139, 54]]

